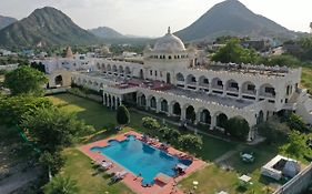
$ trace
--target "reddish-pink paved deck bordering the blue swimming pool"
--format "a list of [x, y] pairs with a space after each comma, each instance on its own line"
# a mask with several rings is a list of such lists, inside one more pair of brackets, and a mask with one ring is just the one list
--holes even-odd
[[[100, 152], [91, 152], [90, 149], [94, 147], [94, 146], [107, 146], [109, 145], [108, 141], [109, 140], [118, 140], [118, 141], [123, 141], [127, 139], [128, 135], [135, 135], [137, 137], [141, 137], [142, 134], [137, 133], [134, 131], [130, 131], [127, 133], [122, 133], [122, 134], [118, 134], [115, 136], [105, 139], [105, 140], [100, 140], [87, 145], [82, 145], [79, 147], [79, 150], [81, 152], [83, 152], [85, 155], [88, 155], [91, 160], [93, 161], [99, 161], [99, 160], [105, 160], [105, 161], [110, 161], [108, 157], [105, 157], [103, 154], [101, 154]], [[158, 142], [155, 144], [153, 144], [152, 146], [154, 147], [159, 147], [161, 144], [161, 142]], [[184, 154], [181, 151], [178, 151], [173, 147], [169, 147], [168, 149], [168, 153], [171, 155], [179, 155], [179, 154]], [[113, 162], [113, 161], [111, 161]], [[125, 170], [127, 172], [129, 172], [125, 177], [121, 181], [123, 182], [129, 188], [131, 188], [133, 192], [138, 193], [138, 194], [170, 194], [170, 193], [174, 193], [174, 194], [182, 194], [183, 192], [181, 190], [178, 190], [177, 192], [173, 192], [173, 184], [174, 184], [174, 180], [177, 182], [181, 181], [182, 178], [189, 176], [191, 173], [193, 173], [194, 171], [198, 171], [202, 167], [204, 167], [207, 165], [205, 162], [193, 157], [193, 162], [192, 164], [185, 170], [185, 174], [183, 175], [179, 175], [178, 177], [170, 177], [169, 182], [167, 184], [164, 183], [160, 183], [160, 182], [155, 182], [152, 186], [150, 187], [143, 187], [141, 185], [141, 181], [142, 177], [135, 178], [137, 175], [132, 174], [131, 172], [129, 172], [128, 170], [125, 170], [123, 166], [117, 164], [115, 162], [113, 162], [113, 167], [109, 170], [109, 172], [117, 172], [120, 170]]]

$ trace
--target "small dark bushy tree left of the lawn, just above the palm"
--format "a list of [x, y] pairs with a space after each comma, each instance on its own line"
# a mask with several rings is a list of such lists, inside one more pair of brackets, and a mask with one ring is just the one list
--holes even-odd
[[39, 163], [46, 169], [50, 170], [52, 175], [56, 175], [61, 167], [64, 165], [64, 159], [60, 154], [60, 152], [43, 152], [40, 155]]

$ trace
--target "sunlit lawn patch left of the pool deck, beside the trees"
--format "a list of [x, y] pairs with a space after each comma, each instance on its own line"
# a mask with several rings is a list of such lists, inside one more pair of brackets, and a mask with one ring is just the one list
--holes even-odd
[[123, 183], [110, 184], [110, 178], [103, 172], [94, 175], [91, 160], [77, 149], [67, 149], [62, 152], [66, 160], [61, 174], [78, 182], [79, 193], [84, 194], [132, 194]]

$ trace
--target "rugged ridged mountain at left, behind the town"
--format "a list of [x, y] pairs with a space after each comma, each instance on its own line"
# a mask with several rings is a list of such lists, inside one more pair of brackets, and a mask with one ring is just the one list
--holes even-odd
[[98, 40], [51, 7], [36, 9], [29, 17], [0, 31], [0, 44], [4, 47], [87, 44]]

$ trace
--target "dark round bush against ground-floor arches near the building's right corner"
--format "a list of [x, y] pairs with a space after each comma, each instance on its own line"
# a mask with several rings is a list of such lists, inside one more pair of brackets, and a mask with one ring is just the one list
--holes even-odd
[[225, 124], [225, 132], [232, 136], [238, 137], [241, 141], [245, 141], [249, 134], [250, 127], [245, 119], [241, 116], [234, 116], [228, 120]]

